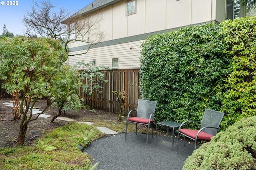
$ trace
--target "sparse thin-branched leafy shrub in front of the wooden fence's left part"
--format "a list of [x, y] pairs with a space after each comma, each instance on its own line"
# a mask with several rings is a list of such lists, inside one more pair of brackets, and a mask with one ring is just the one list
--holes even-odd
[[87, 94], [86, 99], [91, 104], [94, 91], [101, 93], [102, 86], [108, 82], [104, 73], [109, 68], [103, 65], [94, 66], [93, 63], [85, 63], [84, 61], [79, 61], [77, 64], [77, 68], [82, 70], [80, 72], [82, 90]]

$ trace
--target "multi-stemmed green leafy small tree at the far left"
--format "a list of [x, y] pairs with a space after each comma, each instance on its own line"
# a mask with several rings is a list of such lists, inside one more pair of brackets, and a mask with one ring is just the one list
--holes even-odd
[[21, 94], [20, 106], [24, 108], [20, 107], [22, 119], [18, 144], [22, 145], [28, 123], [40, 115], [32, 118], [32, 109], [38, 98], [50, 96], [50, 81], [57, 76], [56, 73], [66, 61], [67, 54], [57, 40], [20, 36], [2, 38], [0, 58], [0, 78], [6, 80], [3, 88], [6, 88], [9, 94], [14, 90], [19, 90]]

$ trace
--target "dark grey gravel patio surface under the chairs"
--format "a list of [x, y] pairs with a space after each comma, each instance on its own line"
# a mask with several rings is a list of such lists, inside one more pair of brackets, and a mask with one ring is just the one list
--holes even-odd
[[193, 152], [194, 144], [179, 141], [178, 154], [176, 153], [177, 138], [174, 139], [174, 150], [172, 150], [172, 139], [165, 136], [149, 136], [146, 144], [146, 134], [124, 133], [107, 136], [93, 141], [85, 150], [99, 163], [98, 169], [182, 169], [184, 161]]

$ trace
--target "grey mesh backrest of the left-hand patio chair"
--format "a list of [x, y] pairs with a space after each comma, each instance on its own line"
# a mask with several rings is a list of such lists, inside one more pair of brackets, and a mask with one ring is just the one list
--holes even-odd
[[[138, 100], [137, 117], [148, 119], [155, 112], [156, 103], [150, 100]], [[152, 117], [153, 118], [153, 117]]]

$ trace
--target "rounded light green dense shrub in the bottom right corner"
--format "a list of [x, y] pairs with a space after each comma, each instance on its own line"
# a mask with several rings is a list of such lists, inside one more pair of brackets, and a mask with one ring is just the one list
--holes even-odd
[[242, 118], [189, 156], [183, 169], [256, 169], [256, 116]]

